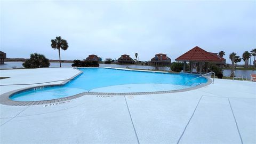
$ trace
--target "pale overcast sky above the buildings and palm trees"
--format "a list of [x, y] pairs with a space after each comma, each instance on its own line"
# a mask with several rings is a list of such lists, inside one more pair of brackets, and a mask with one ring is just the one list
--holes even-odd
[[[256, 48], [256, 1], [1, 1], [1, 51], [58, 59], [51, 39], [67, 39], [61, 59], [89, 54], [172, 61], [195, 46], [228, 55]], [[241, 62], [242, 64], [242, 62]]]

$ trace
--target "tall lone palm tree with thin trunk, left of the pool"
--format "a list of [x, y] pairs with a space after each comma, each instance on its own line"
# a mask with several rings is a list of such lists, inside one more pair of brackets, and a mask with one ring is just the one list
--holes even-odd
[[[52, 39], [51, 40], [52, 44], [52, 48], [55, 50], [55, 49], [58, 49], [59, 50], [59, 59], [60, 59], [60, 49], [62, 50], [67, 50], [68, 49], [68, 43], [65, 39], [61, 39], [60, 36], [57, 36], [55, 39]], [[61, 67], [61, 60], [60, 60], [60, 67]]]

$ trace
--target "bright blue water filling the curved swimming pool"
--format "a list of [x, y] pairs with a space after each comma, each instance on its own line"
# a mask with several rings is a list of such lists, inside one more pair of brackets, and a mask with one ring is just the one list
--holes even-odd
[[[58, 98], [65, 98], [71, 95], [75, 95], [82, 92], [89, 92], [95, 89], [104, 87], [118, 86], [131, 84], [169, 84], [170, 87], [175, 85], [175, 89], [184, 89], [191, 86], [196, 86], [201, 83], [206, 83], [207, 79], [204, 77], [197, 78], [186, 84], [187, 81], [197, 76], [194, 75], [182, 75], [182, 74], [169, 74], [169, 73], [151, 73], [143, 71], [130, 71], [130, 70], [118, 70], [108, 68], [79, 68], [83, 73], [77, 76], [72, 81], [63, 86], [45, 87], [39, 90], [27, 90], [14, 94], [10, 99], [15, 101], [38, 101], [38, 100], [51, 100]], [[167, 87], [169, 86], [167, 85]], [[160, 85], [161, 86], [161, 85]], [[178, 86], [178, 87], [177, 87]], [[141, 87], [142, 88], [142, 87]], [[145, 90], [145, 87], [143, 87]], [[109, 88], [108, 88], [109, 89]], [[140, 89], [140, 87], [138, 87]], [[173, 89], [170, 89], [173, 90]], [[116, 92], [120, 92], [115, 90]], [[157, 91], [157, 90], [148, 90]], [[161, 91], [161, 90], [159, 90]], [[138, 90], [129, 92], [138, 92]], [[143, 91], [145, 92], [145, 91]]]

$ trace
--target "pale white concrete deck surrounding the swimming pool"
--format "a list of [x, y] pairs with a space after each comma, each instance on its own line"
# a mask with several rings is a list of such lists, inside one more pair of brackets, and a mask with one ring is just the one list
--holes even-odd
[[[79, 71], [0, 73], [10, 77], [1, 84], [13, 84], [58, 81]], [[84, 95], [37, 106], [0, 105], [0, 143], [256, 143], [256, 83], [214, 83], [179, 93]], [[0, 86], [0, 94], [28, 86]]]

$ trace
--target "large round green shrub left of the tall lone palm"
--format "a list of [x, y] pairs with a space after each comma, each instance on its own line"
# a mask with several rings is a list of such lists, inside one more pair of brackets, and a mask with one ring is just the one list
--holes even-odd
[[30, 54], [30, 59], [22, 63], [22, 66], [25, 68], [43, 68], [49, 67], [50, 62], [43, 54], [32, 53]]

